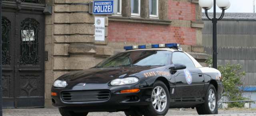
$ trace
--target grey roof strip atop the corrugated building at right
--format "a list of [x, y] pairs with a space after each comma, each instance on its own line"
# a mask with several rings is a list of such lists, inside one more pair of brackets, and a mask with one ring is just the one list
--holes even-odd
[[[216, 18], [219, 18], [220, 12], [216, 12]], [[208, 12], [209, 18], [213, 18], [213, 12]], [[202, 19], [208, 19], [204, 12], [202, 12]], [[234, 20], [256, 20], [256, 13], [231, 13], [225, 12], [222, 19], [234, 19]]]

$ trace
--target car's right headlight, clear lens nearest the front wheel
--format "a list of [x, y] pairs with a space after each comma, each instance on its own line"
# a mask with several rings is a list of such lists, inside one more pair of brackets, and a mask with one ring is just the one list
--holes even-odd
[[110, 85], [128, 85], [137, 83], [139, 79], [137, 77], [126, 77], [121, 79], [114, 79], [111, 81]]

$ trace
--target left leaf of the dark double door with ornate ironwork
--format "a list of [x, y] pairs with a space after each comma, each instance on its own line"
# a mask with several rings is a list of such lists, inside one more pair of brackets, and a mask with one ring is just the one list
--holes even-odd
[[[14, 13], [2, 13], [2, 106], [14, 108]], [[11, 23], [12, 22], [12, 23]]]

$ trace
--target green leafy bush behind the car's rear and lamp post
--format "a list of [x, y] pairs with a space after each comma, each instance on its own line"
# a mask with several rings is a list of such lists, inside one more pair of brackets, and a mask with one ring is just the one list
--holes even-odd
[[[209, 59], [205, 61], [207, 66], [212, 65], [212, 55], [208, 55]], [[218, 65], [218, 70], [222, 76], [223, 92], [222, 96], [226, 96], [230, 101], [236, 100], [250, 100], [250, 98], [243, 97], [243, 81], [242, 76], [246, 75], [244, 71], [241, 71], [242, 66], [240, 64]], [[242, 90], [240, 90], [242, 87]], [[243, 107], [243, 102], [230, 102], [229, 107]]]

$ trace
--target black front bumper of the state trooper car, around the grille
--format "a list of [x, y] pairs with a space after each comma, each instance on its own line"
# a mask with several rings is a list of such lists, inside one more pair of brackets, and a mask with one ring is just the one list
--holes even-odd
[[[138, 92], [120, 93], [120, 90], [132, 89], [134, 86], [123, 85], [107, 88], [98, 88], [93, 90], [68, 90], [52, 87], [52, 92], [56, 92], [56, 96], [52, 96], [52, 105], [65, 110], [74, 112], [116, 112], [129, 109], [131, 106], [145, 106], [151, 103], [152, 88], [140, 88]], [[93, 95], [82, 95], [82, 92], [109, 91], [108, 98], [103, 100], [90, 100], [95, 97]], [[80, 97], [82, 100], [67, 100], [63, 94], [67, 92], [81, 92], [81, 95], [73, 95], [70, 98]]]

